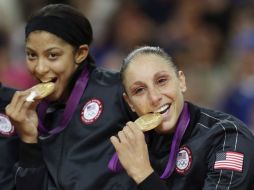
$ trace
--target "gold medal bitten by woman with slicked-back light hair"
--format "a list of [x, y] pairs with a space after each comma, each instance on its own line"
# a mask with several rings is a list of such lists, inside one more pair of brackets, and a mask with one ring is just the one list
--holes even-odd
[[134, 122], [142, 131], [149, 131], [161, 124], [162, 116], [160, 113], [149, 113], [139, 117]]

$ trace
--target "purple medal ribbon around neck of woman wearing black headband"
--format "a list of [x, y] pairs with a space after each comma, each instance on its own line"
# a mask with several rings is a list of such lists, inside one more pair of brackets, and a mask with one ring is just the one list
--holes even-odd
[[71, 95], [69, 96], [67, 100], [66, 107], [64, 109], [64, 113], [62, 115], [59, 125], [50, 131], [47, 130], [42, 123], [43, 119], [45, 118], [46, 110], [49, 106], [49, 102], [43, 101], [42, 103], [40, 103], [38, 107], [38, 115], [39, 115], [38, 129], [40, 133], [42, 134], [48, 133], [53, 135], [53, 134], [60, 133], [63, 129], [65, 129], [65, 127], [70, 122], [72, 115], [78, 106], [80, 98], [87, 86], [88, 79], [89, 79], [89, 70], [87, 68], [84, 68], [78, 80], [75, 82]]

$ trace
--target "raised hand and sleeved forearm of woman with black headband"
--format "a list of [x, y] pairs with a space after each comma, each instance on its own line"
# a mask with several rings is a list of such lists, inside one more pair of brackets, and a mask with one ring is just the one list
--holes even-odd
[[19, 162], [14, 168], [17, 190], [47, 189], [47, 169], [43, 162], [42, 150], [38, 144], [39, 102], [28, 102], [29, 92], [16, 92], [5, 112], [9, 116], [20, 138]]

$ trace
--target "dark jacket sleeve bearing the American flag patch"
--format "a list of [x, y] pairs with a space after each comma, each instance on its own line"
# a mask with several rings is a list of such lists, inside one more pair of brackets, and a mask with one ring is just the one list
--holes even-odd
[[254, 138], [247, 127], [240, 125], [228, 121], [216, 128], [204, 190], [253, 189]]

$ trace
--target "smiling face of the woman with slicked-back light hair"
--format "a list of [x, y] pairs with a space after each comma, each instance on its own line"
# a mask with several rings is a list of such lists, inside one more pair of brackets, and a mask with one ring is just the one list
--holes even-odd
[[183, 109], [186, 91], [185, 76], [176, 73], [169, 60], [156, 54], [138, 54], [123, 75], [124, 98], [139, 116], [160, 112], [159, 133], [172, 132]]

